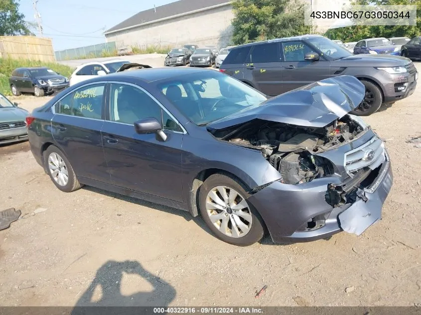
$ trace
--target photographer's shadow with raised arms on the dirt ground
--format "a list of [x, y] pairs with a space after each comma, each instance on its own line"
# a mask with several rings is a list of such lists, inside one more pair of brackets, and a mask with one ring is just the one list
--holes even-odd
[[[152, 291], [122, 295], [123, 273], [145, 279], [153, 287]], [[93, 301], [95, 289], [98, 288], [101, 290], [101, 298]], [[171, 285], [144, 270], [139, 262], [108, 261], [98, 269], [94, 280], [76, 303], [71, 315], [141, 314], [139, 307], [165, 307], [175, 295], [176, 291]]]

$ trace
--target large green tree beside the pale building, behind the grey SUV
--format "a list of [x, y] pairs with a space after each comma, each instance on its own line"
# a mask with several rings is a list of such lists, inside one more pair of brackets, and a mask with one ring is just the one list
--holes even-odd
[[300, 0], [234, 0], [233, 42], [236, 45], [310, 32]]

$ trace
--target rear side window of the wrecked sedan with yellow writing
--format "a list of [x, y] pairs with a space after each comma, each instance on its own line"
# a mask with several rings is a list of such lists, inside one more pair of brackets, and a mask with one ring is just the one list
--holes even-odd
[[103, 84], [97, 84], [78, 89], [57, 102], [56, 112], [71, 116], [101, 119], [104, 88]]

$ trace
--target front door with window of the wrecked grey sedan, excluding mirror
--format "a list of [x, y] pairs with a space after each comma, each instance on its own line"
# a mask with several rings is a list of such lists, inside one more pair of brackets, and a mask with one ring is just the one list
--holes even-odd
[[[144, 90], [125, 83], [110, 87], [109, 113], [102, 127], [105, 158], [112, 183], [119, 187], [183, 201], [181, 127]], [[134, 122], [155, 117], [167, 138], [138, 134]]]

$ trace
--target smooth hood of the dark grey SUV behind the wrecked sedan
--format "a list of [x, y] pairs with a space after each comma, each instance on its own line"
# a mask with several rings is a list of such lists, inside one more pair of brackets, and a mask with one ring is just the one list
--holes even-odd
[[333, 67], [396, 67], [411, 63], [406, 57], [392, 55], [359, 54], [330, 62]]

